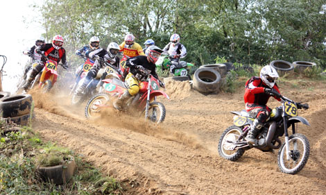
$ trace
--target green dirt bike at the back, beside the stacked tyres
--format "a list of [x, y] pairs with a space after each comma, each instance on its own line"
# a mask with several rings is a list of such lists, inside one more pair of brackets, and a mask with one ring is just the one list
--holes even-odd
[[[167, 53], [162, 53], [160, 58], [158, 58], [157, 62], [155, 63], [156, 67], [159, 69], [164, 70], [170, 70], [170, 67], [173, 61], [171, 62], [170, 57], [174, 57], [175, 55], [166, 55]], [[191, 67], [194, 67], [194, 64], [191, 64], [189, 62], [180, 61], [179, 62], [180, 68], [175, 68], [174, 76], [188, 76], [191, 80], [191, 76], [189, 74], [189, 71]]]

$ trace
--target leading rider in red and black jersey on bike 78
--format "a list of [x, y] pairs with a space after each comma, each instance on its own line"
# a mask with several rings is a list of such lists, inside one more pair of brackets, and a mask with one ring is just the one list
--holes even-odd
[[276, 84], [278, 77], [276, 69], [266, 65], [260, 71], [260, 78], [252, 76], [246, 82], [246, 91], [244, 94], [246, 110], [251, 117], [255, 117], [251, 129], [245, 137], [246, 141], [250, 144], [255, 144], [259, 130], [261, 130], [264, 122], [269, 117], [271, 110], [266, 105], [268, 99], [273, 96], [277, 101], [281, 101], [279, 96], [280, 90]]

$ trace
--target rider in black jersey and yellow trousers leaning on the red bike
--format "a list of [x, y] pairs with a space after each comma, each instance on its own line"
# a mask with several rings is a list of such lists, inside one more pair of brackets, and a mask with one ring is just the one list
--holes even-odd
[[[123, 104], [126, 101], [139, 92], [139, 83], [146, 80], [148, 74], [145, 71], [150, 72], [152, 76], [158, 79], [155, 71], [155, 62], [161, 56], [162, 49], [152, 45], [146, 50], [146, 56], [136, 56], [134, 58], [129, 58], [126, 61], [126, 66], [130, 67], [130, 72], [126, 76], [125, 83], [128, 86], [126, 90], [116, 101], [114, 101], [113, 106], [117, 110], [122, 110]], [[164, 83], [159, 80], [160, 86], [164, 87]]]

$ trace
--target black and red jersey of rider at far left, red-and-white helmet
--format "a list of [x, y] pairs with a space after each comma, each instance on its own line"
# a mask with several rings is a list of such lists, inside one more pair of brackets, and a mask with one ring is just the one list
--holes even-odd
[[[63, 47], [60, 49], [55, 49], [51, 43], [43, 44], [40, 47], [37, 47], [36, 50], [44, 51], [44, 56], [48, 57], [50, 60], [53, 60], [57, 63], [62, 62], [62, 64], [66, 64], [66, 51]], [[45, 62], [44, 59], [42, 59]]]

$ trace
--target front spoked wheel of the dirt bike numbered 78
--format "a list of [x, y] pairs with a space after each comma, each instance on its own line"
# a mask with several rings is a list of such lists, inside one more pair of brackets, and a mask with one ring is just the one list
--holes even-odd
[[295, 133], [289, 137], [289, 160], [286, 159], [284, 142], [277, 156], [277, 165], [283, 173], [294, 175], [303, 169], [308, 161], [309, 153], [310, 146], [307, 137]]

